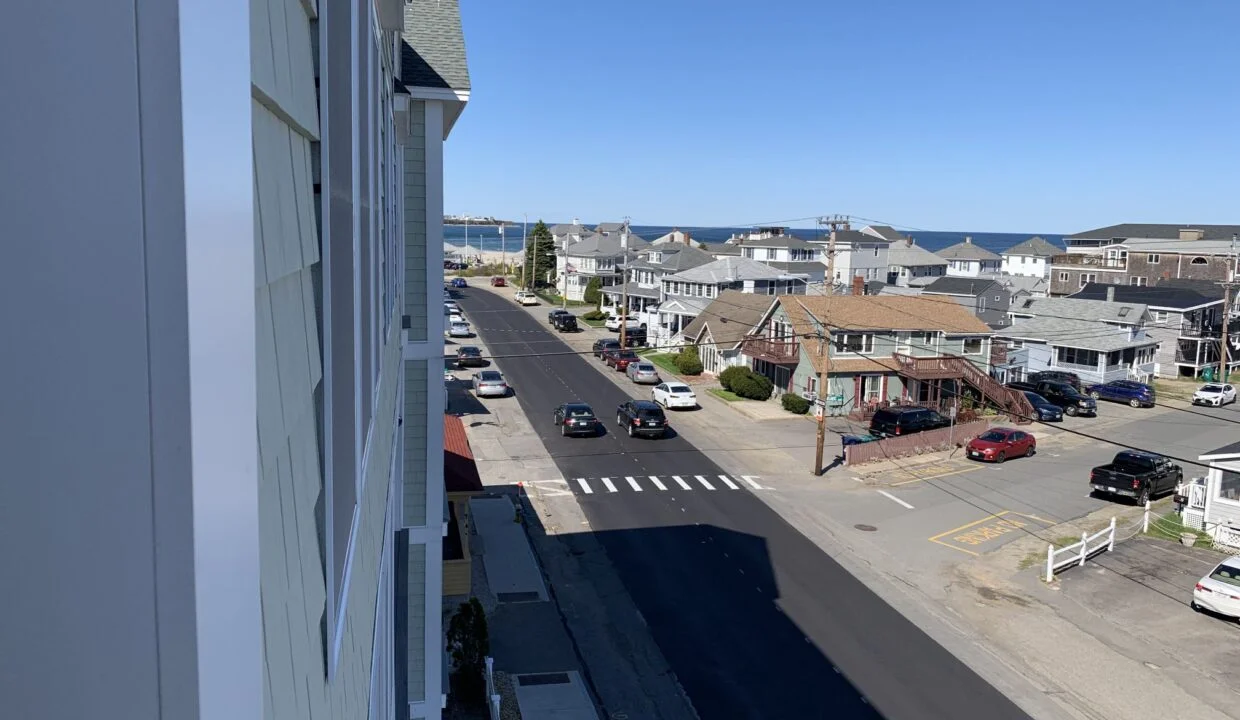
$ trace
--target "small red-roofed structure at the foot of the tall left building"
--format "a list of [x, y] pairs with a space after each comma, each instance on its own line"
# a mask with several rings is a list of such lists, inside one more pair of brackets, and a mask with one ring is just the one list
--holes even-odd
[[458, 415], [444, 414], [444, 488], [448, 497], [448, 534], [444, 535], [445, 602], [466, 602], [472, 589], [470, 558], [469, 498], [484, 491], [477, 462], [469, 446], [465, 424]]

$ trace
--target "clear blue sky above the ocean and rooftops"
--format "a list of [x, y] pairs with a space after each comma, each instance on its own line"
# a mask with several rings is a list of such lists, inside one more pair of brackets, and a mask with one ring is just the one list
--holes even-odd
[[450, 213], [1240, 221], [1235, 0], [461, 5]]

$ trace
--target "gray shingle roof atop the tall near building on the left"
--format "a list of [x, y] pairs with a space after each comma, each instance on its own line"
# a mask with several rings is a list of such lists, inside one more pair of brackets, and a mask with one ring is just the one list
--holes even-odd
[[409, 88], [469, 90], [458, 0], [405, 0], [401, 82]]

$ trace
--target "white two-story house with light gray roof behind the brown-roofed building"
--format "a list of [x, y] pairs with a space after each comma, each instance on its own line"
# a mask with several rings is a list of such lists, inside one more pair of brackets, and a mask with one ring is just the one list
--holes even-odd
[[805, 294], [808, 276], [785, 273], [748, 258], [725, 257], [662, 279], [658, 323], [647, 326], [657, 345], [672, 345], [689, 322], [724, 290], [753, 295]]

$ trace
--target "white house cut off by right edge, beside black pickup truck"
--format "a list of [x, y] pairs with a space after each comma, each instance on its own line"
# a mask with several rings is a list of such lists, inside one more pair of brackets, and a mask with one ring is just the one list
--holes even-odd
[[1209, 466], [1205, 477], [1187, 481], [1183, 523], [1204, 530], [1214, 547], [1240, 553], [1240, 442], [1231, 442], [1197, 459]]

